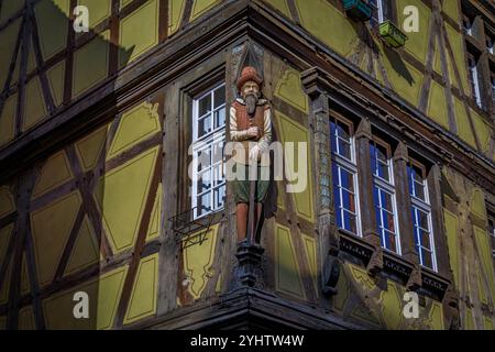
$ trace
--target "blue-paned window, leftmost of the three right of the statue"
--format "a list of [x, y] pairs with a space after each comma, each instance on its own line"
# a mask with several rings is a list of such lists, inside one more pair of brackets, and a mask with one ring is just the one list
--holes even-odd
[[330, 121], [330, 139], [337, 226], [361, 235], [358, 167], [352, 124], [340, 120]]

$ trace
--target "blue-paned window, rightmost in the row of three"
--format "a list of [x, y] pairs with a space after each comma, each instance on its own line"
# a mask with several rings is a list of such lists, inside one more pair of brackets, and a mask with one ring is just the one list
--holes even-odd
[[431, 223], [431, 205], [425, 166], [411, 161], [407, 166], [407, 178], [411, 200], [414, 238], [419, 263], [437, 271]]

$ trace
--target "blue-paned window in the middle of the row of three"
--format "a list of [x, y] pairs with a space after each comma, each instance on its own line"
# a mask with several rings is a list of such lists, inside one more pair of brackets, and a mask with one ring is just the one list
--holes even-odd
[[373, 201], [382, 246], [400, 254], [391, 150], [388, 145], [371, 141], [370, 156], [373, 174]]

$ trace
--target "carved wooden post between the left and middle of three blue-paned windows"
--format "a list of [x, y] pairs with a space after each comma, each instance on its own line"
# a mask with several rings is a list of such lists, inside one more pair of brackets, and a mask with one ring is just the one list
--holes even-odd
[[367, 272], [374, 276], [383, 270], [383, 251], [380, 234], [376, 232], [373, 202], [373, 174], [370, 160], [370, 141], [372, 128], [369, 119], [362, 119], [355, 133], [359, 193], [361, 198], [361, 224], [363, 239], [373, 245], [373, 255], [367, 263]]

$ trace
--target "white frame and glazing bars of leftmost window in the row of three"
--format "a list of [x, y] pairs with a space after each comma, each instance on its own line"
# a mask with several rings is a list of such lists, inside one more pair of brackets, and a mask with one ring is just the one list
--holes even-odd
[[[342, 122], [341, 120], [334, 119], [334, 118], [332, 119], [331, 122], [336, 123], [336, 133], [338, 133], [338, 129], [337, 129], [338, 122], [341, 122], [349, 127], [349, 134], [351, 135], [350, 140], [346, 141], [346, 142], [350, 142], [351, 160], [343, 157], [339, 153], [340, 152], [339, 139], [341, 139], [341, 140], [343, 140], [343, 139], [338, 136], [337, 134], [330, 135], [331, 139], [336, 140], [337, 151], [332, 151], [332, 163], [336, 163], [337, 170], [338, 170], [338, 176], [339, 176], [338, 188], [339, 188], [339, 197], [340, 197], [340, 204], [341, 204], [340, 209], [336, 209], [336, 215], [338, 212], [337, 216], [340, 217], [341, 223], [344, 224], [344, 211], [348, 211], [348, 210], [344, 209], [344, 207], [343, 207], [343, 193], [342, 193], [343, 187], [341, 186], [342, 185], [342, 176], [341, 176], [341, 172], [340, 172], [340, 169], [342, 168], [345, 172], [352, 174], [352, 176], [353, 176], [352, 180], [353, 180], [353, 186], [354, 186], [353, 194], [354, 194], [354, 208], [355, 208], [355, 229], [358, 232], [355, 234], [359, 237], [362, 237], [363, 234], [362, 234], [362, 229], [361, 229], [361, 211], [360, 211], [360, 194], [359, 194], [359, 183], [358, 183], [358, 164], [356, 164], [356, 155], [355, 155], [355, 139], [352, 133], [353, 131], [351, 130], [351, 127], [348, 123]], [[331, 129], [330, 129], [330, 131], [331, 131]], [[330, 144], [331, 144], [331, 141], [330, 141]], [[332, 177], [334, 177], [334, 176], [336, 175], [332, 175]], [[349, 189], [346, 189], [346, 190], [349, 191]], [[333, 185], [332, 185], [332, 191], [333, 191]], [[333, 202], [333, 205], [336, 205], [336, 202]], [[350, 211], [348, 211], [348, 212], [350, 212]], [[345, 230], [345, 231], [350, 231], [345, 228], [341, 228], [341, 229]], [[350, 231], [350, 232], [352, 232], [352, 231]]]

